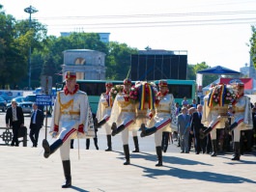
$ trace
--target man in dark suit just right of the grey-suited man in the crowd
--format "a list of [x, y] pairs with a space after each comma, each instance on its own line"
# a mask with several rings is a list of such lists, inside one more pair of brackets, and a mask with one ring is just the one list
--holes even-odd
[[[203, 123], [201, 123], [202, 120], [202, 111], [203, 106], [201, 104], [197, 105], [197, 111], [193, 113], [193, 119], [191, 124], [191, 131], [194, 134], [194, 141], [195, 141], [195, 152], [196, 154], [199, 154], [201, 151], [201, 140], [200, 140], [200, 130], [204, 128]], [[203, 151], [205, 152], [205, 151]]]

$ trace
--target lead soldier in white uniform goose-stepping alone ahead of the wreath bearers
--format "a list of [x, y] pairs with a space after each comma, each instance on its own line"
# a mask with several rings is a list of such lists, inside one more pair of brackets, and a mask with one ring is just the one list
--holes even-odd
[[49, 145], [47, 140], [43, 139], [45, 158], [60, 148], [66, 178], [62, 188], [71, 187], [71, 138], [80, 137], [87, 132], [89, 115], [88, 97], [79, 90], [75, 72], [68, 71], [65, 78], [66, 86], [56, 97], [52, 117], [52, 136], [58, 135], [57, 140]]

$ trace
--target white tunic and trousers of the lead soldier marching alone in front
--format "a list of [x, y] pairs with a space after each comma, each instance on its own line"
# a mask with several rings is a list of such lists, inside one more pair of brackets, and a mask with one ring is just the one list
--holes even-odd
[[[53, 110], [53, 125], [59, 127], [57, 139], [61, 139], [60, 147], [62, 160], [70, 160], [71, 139], [77, 136], [79, 124], [84, 124], [84, 132], [88, 128], [89, 102], [86, 93], [77, 91], [73, 95], [58, 93]], [[54, 126], [51, 127], [54, 131]]]

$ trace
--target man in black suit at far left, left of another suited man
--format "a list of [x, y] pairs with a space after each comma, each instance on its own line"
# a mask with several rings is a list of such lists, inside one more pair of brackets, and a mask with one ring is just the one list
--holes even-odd
[[24, 126], [24, 115], [22, 108], [17, 106], [14, 100], [12, 100], [12, 107], [9, 107], [6, 112], [6, 126], [13, 127], [14, 136], [11, 146], [18, 147], [18, 129]]

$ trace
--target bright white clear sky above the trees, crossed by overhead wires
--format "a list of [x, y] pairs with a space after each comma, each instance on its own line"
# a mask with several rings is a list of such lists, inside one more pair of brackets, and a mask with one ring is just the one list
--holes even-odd
[[1, 0], [6, 14], [26, 19], [24, 9], [60, 32], [110, 33], [110, 41], [145, 49], [185, 50], [188, 64], [206, 62], [240, 70], [249, 64], [256, 0]]

